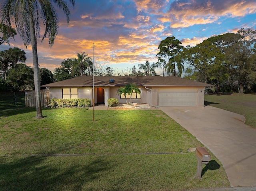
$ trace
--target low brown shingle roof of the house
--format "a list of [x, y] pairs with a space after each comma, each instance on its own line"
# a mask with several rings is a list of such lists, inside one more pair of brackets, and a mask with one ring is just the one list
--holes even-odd
[[[109, 80], [114, 79], [114, 83]], [[125, 86], [132, 83], [138, 86], [212, 86], [210, 84], [192, 81], [175, 76], [95, 76], [94, 86]], [[80, 76], [42, 87], [84, 87], [92, 86], [92, 76]]]

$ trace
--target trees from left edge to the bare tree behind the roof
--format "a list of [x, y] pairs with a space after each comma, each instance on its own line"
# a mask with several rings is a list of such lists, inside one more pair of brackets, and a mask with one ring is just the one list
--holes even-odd
[[[18, 47], [0, 51], [0, 91], [20, 91], [34, 89], [34, 69], [25, 63], [25, 51]], [[21, 62], [21, 63], [18, 63]], [[112, 76], [113, 69], [97, 65], [95, 75]], [[77, 53], [77, 58], [68, 58], [61, 62], [60, 67], [53, 73], [47, 68], [39, 68], [40, 85], [45, 85], [81, 75], [92, 76], [93, 63], [90, 57], [83, 53]]]

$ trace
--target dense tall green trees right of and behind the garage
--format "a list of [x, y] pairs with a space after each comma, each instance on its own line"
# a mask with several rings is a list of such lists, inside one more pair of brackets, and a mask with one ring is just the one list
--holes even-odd
[[[184, 77], [215, 86], [215, 91], [256, 92], [256, 30], [241, 28], [183, 47], [175, 37], [162, 40], [158, 64], [163, 75]], [[184, 69], [184, 63], [188, 65]]]

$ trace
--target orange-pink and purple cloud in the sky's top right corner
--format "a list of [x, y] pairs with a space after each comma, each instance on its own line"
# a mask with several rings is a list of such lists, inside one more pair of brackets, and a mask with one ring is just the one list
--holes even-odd
[[[234, 3], [235, 2], [235, 3]], [[208, 0], [174, 1], [166, 14], [159, 18], [161, 22], [170, 22], [172, 28], [184, 28], [195, 24], [210, 24], [221, 16], [241, 17], [256, 13], [254, 0], [223, 1]]]

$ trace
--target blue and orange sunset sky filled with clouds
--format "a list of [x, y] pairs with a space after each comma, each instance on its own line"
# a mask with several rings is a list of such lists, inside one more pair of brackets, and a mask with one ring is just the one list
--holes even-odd
[[[76, 53], [93, 58], [93, 43], [95, 63], [108, 65], [117, 74], [134, 65], [138, 70], [138, 64], [147, 60], [157, 62], [158, 45], [168, 36], [194, 46], [214, 35], [256, 29], [255, 0], [76, 0], [75, 9], [70, 6], [69, 25], [56, 10], [60, 26], [53, 47], [48, 47], [47, 39], [38, 40], [39, 67], [51, 71]], [[25, 64], [32, 66], [31, 47], [26, 49], [19, 35], [10, 47], [26, 51]], [[0, 51], [8, 48], [0, 45]]]

